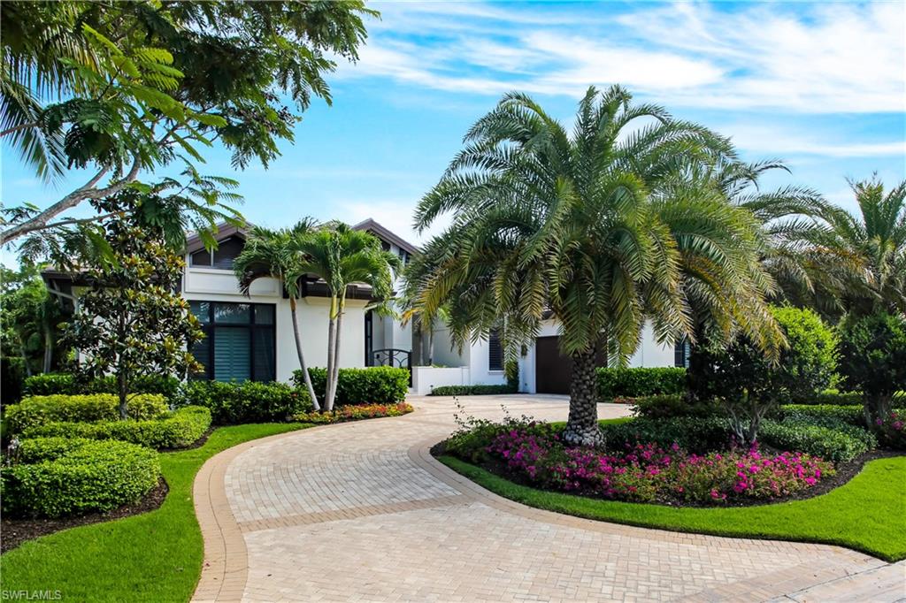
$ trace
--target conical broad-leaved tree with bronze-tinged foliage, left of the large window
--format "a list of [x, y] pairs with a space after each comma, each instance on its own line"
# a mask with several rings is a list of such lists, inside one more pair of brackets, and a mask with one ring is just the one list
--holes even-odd
[[122, 418], [128, 417], [136, 378], [186, 378], [200, 369], [188, 350], [204, 337], [179, 294], [182, 256], [167, 243], [163, 228], [140, 220], [139, 197], [127, 191], [92, 202], [111, 214], [103, 228], [115, 261], [95, 256], [84, 266], [89, 287], [64, 333], [82, 356], [76, 367], [81, 378], [116, 378]]

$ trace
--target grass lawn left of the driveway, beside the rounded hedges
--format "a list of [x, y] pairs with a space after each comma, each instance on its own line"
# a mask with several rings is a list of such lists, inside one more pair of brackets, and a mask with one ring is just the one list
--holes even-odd
[[198, 469], [231, 446], [307, 426], [220, 427], [199, 448], [160, 455], [169, 494], [157, 511], [25, 542], [0, 557], [3, 589], [59, 590], [71, 601], [188, 601], [204, 556], [192, 503]]

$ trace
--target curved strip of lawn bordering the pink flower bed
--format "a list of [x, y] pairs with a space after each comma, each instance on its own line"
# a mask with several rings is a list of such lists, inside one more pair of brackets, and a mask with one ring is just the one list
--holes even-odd
[[542, 492], [452, 456], [439, 460], [493, 493], [548, 511], [672, 531], [839, 544], [883, 560], [906, 559], [906, 456], [872, 461], [849, 483], [822, 496], [726, 509], [677, 509]]

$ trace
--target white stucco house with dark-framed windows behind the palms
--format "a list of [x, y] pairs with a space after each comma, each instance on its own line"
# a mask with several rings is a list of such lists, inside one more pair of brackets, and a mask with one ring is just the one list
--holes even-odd
[[[418, 247], [374, 220], [353, 228], [377, 236], [384, 249], [398, 254], [405, 264]], [[192, 350], [205, 367], [203, 377], [216, 380], [289, 381], [299, 368], [290, 318], [289, 300], [279, 282], [259, 279], [249, 295], [239, 291], [233, 260], [242, 250], [246, 229], [224, 226], [217, 233], [217, 249], [209, 251], [197, 236], [190, 236], [185, 252], [186, 269], [182, 295], [204, 326], [207, 337]], [[52, 292], [64, 300], [78, 298], [80, 276], [44, 271]], [[432, 388], [448, 385], [503, 385], [506, 376], [503, 350], [495, 336], [458, 350], [449, 331], [438, 322], [433, 327], [430, 352], [428, 338], [413, 332], [411, 325], [381, 317], [369, 309], [371, 289], [353, 286], [347, 294], [342, 322], [342, 368], [391, 365], [411, 369], [411, 391], [428, 394]], [[303, 283], [297, 306], [305, 360], [323, 367], [327, 359], [327, 312], [329, 298], [323, 282], [311, 277]], [[519, 361], [519, 390], [524, 392], [567, 393], [570, 360], [560, 356], [557, 327], [545, 321], [540, 336], [525, 349]], [[674, 366], [685, 361], [681, 347], [660, 346], [646, 328], [631, 366]], [[432, 366], [419, 366], [431, 358]]]

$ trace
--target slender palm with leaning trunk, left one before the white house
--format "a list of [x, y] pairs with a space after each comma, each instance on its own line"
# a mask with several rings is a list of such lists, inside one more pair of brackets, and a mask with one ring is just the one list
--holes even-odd
[[249, 294], [252, 282], [260, 278], [272, 278], [279, 281], [289, 295], [290, 315], [293, 317], [293, 334], [295, 337], [295, 351], [299, 356], [299, 368], [305, 380], [305, 388], [315, 410], [320, 410], [318, 397], [312, 387], [312, 378], [305, 366], [305, 357], [302, 351], [302, 338], [299, 333], [299, 321], [296, 317], [296, 303], [301, 291], [299, 282], [305, 275], [305, 258], [299, 253], [314, 234], [317, 223], [313, 218], [306, 218], [292, 228], [269, 230], [255, 226], [246, 239], [242, 253], [236, 256], [233, 268], [239, 280], [239, 289], [244, 294]]

